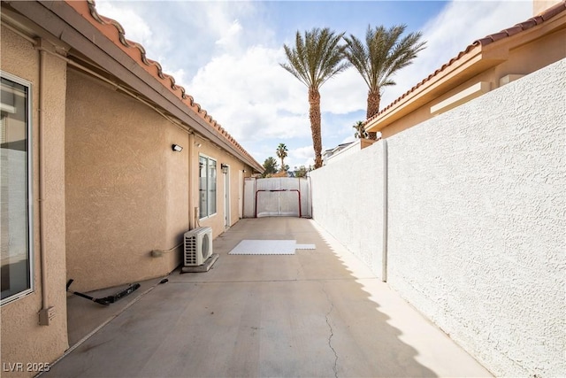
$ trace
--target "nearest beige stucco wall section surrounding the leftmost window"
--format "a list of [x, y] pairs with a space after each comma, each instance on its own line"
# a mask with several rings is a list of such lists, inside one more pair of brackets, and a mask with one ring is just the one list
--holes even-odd
[[[46, 46], [48, 47], [48, 46]], [[42, 308], [41, 256], [39, 237], [39, 52], [30, 42], [2, 27], [2, 70], [33, 85], [33, 205], [34, 205], [34, 292], [1, 308], [3, 364], [23, 364], [23, 372], [3, 371], [2, 376], [33, 376], [27, 363], [50, 363], [68, 347], [66, 336], [65, 290], [65, 62], [50, 55], [45, 57], [44, 153], [45, 171], [43, 198], [46, 274], [48, 303], [55, 309], [50, 326], [38, 325]], [[4, 366], [4, 365], [3, 365]], [[30, 366], [34, 367], [34, 366]], [[3, 369], [6, 370], [6, 369]], [[7, 370], [10, 370], [7, 368]], [[33, 369], [32, 369], [33, 370]]]

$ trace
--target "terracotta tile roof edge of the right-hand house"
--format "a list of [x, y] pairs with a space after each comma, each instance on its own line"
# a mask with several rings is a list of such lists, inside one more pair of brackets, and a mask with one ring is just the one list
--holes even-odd
[[367, 124], [371, 120], [375, 120], [381, 114], [383, 114], [384, 112], [387, 112], [389, 109], [393, 108], [394, 105], [399, 103], [403, 98], [405, 98], [406, 96], [409, 96], [416, 89], [418, 89], [419, 87], [424, 85], [427, 81], [430, 81], [433, 77], [435, 77], [436, 75], [438, 75], [439, 73], [444, 71], [448, 66], [451, 66], [453, 63], [455, 63], [455, 61], [462, 58], [463, 55], [467, 54], [468, 52], [470, 52], [470, 50], [476, 48], [477, 46], [486, 46], [490, 43], [500, 41], [501, 39], [507, 38], [511, 35], [516, 35], [518, 33], [524, 32], [525, 30], [530, 29], [531, 27], [536, 27], [537, 25], [542, 24], [543, 22], [547, 21], [548, 19], [552, 19], [553, 17], [555, 17], [556, 15], [558, 15], [558, 14], [564, 12], [564, 11], [566, 11], [566, 0], [562, 0], [560, 3], [555, 4], [554, 6], [548, 8], [547, 10], [545, 10], [543, 12], [540, 12], [537, 16], [534, 16], [531, 19], [527, 19], [524, 22], [520, 22], [520, 23], [516, 24], [514, 27], [509, 27], [507, 29], [503, 29], [503, 30], [501, 30], [501, 32], [494, 33], [493, 35], [486, 35], [484, 38], [480, 38], [480, 39], [472, 42], [470, 45], [468, 45], [468, 47], [466, 47], [465, 50], [460, 51], [460, 53], [458, 53], [458, 55], [455, 58], [450, 59], [450, 61], [448, 61], [448, 63], [441, 66], [438, 70], [434, 71], [434, 73], [431, 73], [430, 75], [428, 75], [426, 78], [423, 79], [423, 81], [418, 82], [417, 85], [415, 85], [413, 88], [409, 89], [402, 96], [398, 97], [396, 100], [394, 100], [393, 103], [388, 104], [380, 112], [378, 112], [377, 114], [375, 114], [375, 115], [371, 116], [369, 119], [367, 119], [365, 121], [365, 123]]

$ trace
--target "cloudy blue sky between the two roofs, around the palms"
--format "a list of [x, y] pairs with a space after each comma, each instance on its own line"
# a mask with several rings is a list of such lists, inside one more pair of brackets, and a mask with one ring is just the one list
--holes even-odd
[[[406, 24], [427, 48], [394, 77], [385, 107], [454, 58], [471, 42], [532, 17], [532, 2], [516, 1], [97, 1], [126, 38], [141, 43], [195, 101], [260, 163], [279, 143], [286, 164], [309, 166], [307, 89], [279, 66], [282, 46], [297, 30], [330, 27], [363, 39], [368, 25]], [[323, 150], [354, 140], [365, 119], [367, 88], [354, 68], [321, 88]]]

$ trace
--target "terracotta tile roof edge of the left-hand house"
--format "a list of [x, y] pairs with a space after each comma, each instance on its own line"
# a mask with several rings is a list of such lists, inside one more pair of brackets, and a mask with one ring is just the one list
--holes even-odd
[[261, 167], [261, 165], [257, 163], [256, 159], [253, 158], [249, 152], [226, 131], [224, 127], [221, 127], [220, 124], [214, 120], [200, 104], [195, 102], [193, 96], [188, 95], [183, 87], [175, 84], [175, 79], [171, 75], [163, 72], [163, 69], [158, 62], [146, 57], [146, 51], [140, 43], [126, 39], [126, 32], [118, 21], [98, 14], [94, 0], [87, 0], [87, 4], [90, 15], [100, 26], [98, 27], [99, 30], [111, 39], [111, 41], [115, 42], [120, 50], [126, 52], [126, 54], [130, 56], [130, 58], [133, 58], [139, 66], [142, 66], [142, 68], [155, 77], [157, 81], [160, 81], [166, 89], [169, 89], [175, 96], [178, 96], [184, 104], [187, 104], [187, 106], [206, 121], [213, 130], [225, 138], [226, 141], [231, 143], [236, 150], [239, 150], [241, 154], [249, 158], [251, 162], [256, 163], [257, 167]]

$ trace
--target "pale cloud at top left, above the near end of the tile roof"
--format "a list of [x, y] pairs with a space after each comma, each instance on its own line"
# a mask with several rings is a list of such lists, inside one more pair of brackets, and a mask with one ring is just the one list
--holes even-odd
[[164, 73], [183, 69], [183, 80], [175, 80], [186, 88], [197, 70], [219, 53], [238, 55], [250, 41], [272, 40], [272, 31], [262, 32], [262, 9], [253, 1], [96, 1], [96, 11], [116, 19], [126, 38], [142, 44]]

